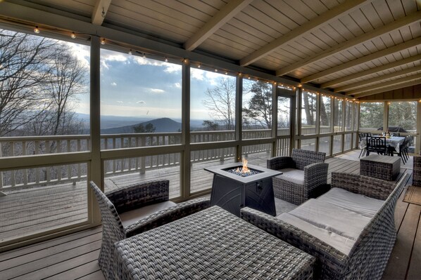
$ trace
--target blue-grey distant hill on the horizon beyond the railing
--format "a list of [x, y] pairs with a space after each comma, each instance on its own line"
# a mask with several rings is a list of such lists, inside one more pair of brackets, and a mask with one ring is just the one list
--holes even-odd
[[[153, 119], [151, 121], [144, 121], [139, 124], [142, 124], [143, 126], [152, 124], [155, 127], [156, 133], [181, 131], [181, 123], [170, 118]], [[138, 126], [139, 124], [101, 129], [101, 134], [134, 133], [133, 126]]]

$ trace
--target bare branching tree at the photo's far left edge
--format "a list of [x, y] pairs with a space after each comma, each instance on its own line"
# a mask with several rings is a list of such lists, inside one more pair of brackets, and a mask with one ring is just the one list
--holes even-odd
[[17, 130], [49, 107], [41, 85], [51, 72], [48, 60], [55, 44], [0, 30], [0, 136]]

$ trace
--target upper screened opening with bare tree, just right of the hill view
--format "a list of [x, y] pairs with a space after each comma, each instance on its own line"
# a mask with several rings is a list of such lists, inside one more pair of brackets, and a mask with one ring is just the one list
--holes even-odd
[[191, 142], [235, 139], [236, 78], [191, 68]]

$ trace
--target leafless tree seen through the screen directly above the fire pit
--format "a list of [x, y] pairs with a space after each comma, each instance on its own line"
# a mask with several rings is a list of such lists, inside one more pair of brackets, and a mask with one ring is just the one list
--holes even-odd
[[209, 115], [227, 130], [235, 128], [235, 87], [235, 79], [221, 78], [217, 86], [206, 90], [203, 100], [203, 105], [210, 110]]

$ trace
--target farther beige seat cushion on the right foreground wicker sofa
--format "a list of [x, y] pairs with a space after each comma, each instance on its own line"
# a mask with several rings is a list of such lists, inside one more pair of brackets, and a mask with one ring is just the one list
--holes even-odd
[[384, 203], [383, 200], [372, 199], [363, 194], [354, 194], [339, 187], [330, 189], [329, 192], [319, 196], [318, 200], [346, 208], [368, 218], [372, 218]]

